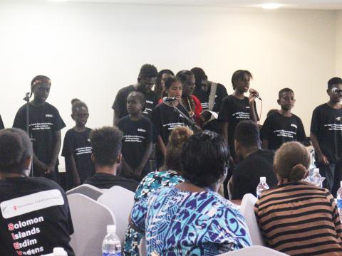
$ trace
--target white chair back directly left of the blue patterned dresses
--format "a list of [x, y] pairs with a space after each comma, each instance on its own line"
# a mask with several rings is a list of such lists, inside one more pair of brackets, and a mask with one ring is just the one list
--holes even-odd
[[116, 235], [123, 244], [128, 227], [128, 217], [134, 204], [134, 193], [121, 186], [113, 186], [98, 198], [98, 202], [110, 208], [115, 215]]

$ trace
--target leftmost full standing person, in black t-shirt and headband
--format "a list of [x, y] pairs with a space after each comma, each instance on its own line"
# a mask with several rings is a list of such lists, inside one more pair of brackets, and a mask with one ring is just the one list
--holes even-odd
[[[61, 149], [61, 129], [66, 127], [58, 110], [48, 104], [51, 80], [37, 75], [31, 81], [33, 100], [29, 102], [29, 136], [33, 141], [33, 175], [45, 176], [59, 182], [58, 154]], [[14, 118], [13, 127], [26, 131], [26, 105]]]

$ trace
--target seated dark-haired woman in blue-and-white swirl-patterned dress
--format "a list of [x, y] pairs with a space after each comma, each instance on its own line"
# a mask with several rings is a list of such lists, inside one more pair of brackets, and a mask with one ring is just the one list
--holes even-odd
[[251, 245], [244, 217], [217, 193], [228, 159], [219, 134], [190, 137], [181, 154], [185, 182], [133, 206], [131, 221], [145, 232], [147, 255], [218, 255]]

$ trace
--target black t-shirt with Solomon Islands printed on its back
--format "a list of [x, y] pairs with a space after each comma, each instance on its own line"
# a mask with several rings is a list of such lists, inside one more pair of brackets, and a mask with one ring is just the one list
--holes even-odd
[[66, 194], [42, 177], [0, 181], [0, 255], [45, 255], [69, 245], [73, 223]]

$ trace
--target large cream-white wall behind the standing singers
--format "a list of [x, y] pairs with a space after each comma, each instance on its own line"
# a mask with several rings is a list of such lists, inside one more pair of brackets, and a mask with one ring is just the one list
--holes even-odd
[[89, 127], [109, 125], [115, 93], [154, 63], [175, 72], [200, 66], [229, 93], [234, 70], [252, 71], [261, 121], [277, 107], [277, 92], [291, 87], [309, 133], [335, 75], [335, 22], [334, 11], [2, 2], [0, 114], [11, 126], [31, 79], [43, 74], [52, 80], [48, 102], [68, 128], [73, 97], [88, 103]]

